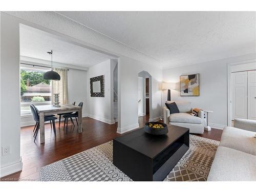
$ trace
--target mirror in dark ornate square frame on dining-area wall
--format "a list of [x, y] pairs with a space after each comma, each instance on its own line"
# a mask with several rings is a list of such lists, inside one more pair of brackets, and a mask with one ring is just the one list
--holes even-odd
[[90, 78], [91, 97], [105, 97], [104, 76]]

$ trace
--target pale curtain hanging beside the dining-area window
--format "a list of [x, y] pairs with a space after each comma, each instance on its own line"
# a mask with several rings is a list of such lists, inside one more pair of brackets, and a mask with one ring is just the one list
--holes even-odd
[[52, 80], [52, 104], [54, 103], [54, 93], [59, 93], [60, 104], [69, 103], [68, 94], [68, 69], [53, 68], [60, 76], [59, 81]]

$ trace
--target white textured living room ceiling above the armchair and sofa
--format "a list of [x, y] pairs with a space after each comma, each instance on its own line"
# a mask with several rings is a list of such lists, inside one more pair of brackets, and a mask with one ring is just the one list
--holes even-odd
[[255, 12], [58, 13], [163, 62], [163, 68], [256, 52]]

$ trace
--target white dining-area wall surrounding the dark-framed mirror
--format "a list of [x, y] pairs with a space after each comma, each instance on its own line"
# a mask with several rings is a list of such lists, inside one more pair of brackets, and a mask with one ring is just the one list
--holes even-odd
[[[113, 70], [111, 60], [106, 60], [88, 70], [88, 116], [105, 123], [114, 124], [114, 116], [112, 113], [113, 100]], [[111, 73], [112, 71], [112, 73]], [[105, 97], [91, 97], [90, 93], [90, 78], [104, 75]], [[112, 78], [112, 80], [111, 80]], [[112, 83], [111, 83], [112, 82]]]

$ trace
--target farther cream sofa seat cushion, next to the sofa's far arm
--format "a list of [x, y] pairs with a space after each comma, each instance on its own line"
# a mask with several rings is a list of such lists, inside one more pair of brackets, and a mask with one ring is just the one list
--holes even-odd
[[256, 155], [256, 138], [254, 135], [255, 132], [227, 126], [222, 132], [220, 146]]

